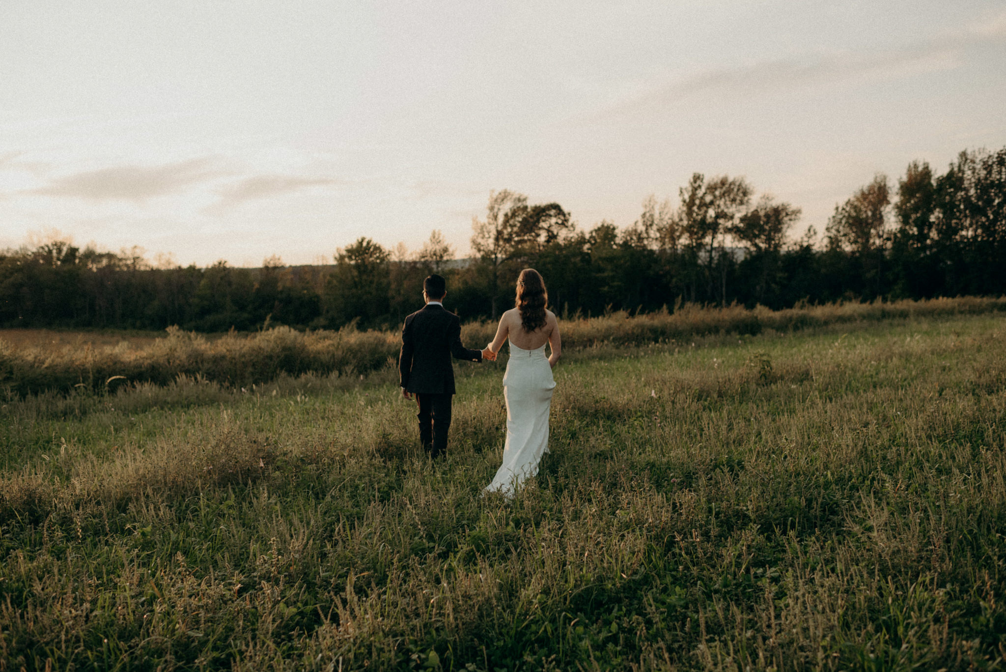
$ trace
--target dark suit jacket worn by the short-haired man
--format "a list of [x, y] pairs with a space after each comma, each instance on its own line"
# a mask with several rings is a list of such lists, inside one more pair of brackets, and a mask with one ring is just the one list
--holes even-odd
[[442, 305], [428, 303], [405, 317], [401, 329], [401, 387], [418, 394], [454, 394], [452, 355], [459, 360], [482, 361], [482, 351], [461, 345], [458, 315]]

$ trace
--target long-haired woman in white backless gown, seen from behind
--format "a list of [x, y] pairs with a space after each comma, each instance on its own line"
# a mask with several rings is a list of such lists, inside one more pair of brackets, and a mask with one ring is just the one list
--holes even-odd
[[[548, 452], [548, 410], [555, 381], [552, 369], [562, 353], [559, 326], [548, 305], [541, 275], [525, 268], [517, 278], [516, 307], [503, 313], [489, 350], [499, 352], [510, 338], [510, 361], [503, 376], [506, 399], [506, 444], [503, 463], [487, 492], [513, 497], [525, 479], [538, 473], [541, 455]], [[545, 344], [551, 355], [545, 359]]]

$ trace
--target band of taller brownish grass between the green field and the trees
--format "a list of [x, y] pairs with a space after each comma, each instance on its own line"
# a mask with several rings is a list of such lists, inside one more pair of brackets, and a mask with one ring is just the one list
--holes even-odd
[[[562, 320], [568, 348], [643, 345], [688, 341], [706, 334], [789, 332], [808, 327], [892, 318], [981, 314], [1006, 311], [1006, 298], [941, 298], [925, 301], [842, 303], [773, 311], [732, 305], [723, 308], [685, 304], [673, 312], [613, 314]], [[462, 330], [469, 347], [481, 348], [495, 324], [473, 322]], [[46, 390], [110, 391], [130, 383], [166, 385], [179, 376], [198, 377], [233, 387], [248, 387], [281, 375], [315, 373], [356, 376], [393, 364], [400, 346], [397, 332], [300, 332], [289, 327], [250, 335], [231, 333], [206, 339], [177, 327], [147, 347], [120, 344], [92, 347], [25, 347], [0, 338], [0, 390], [37, 394]]]

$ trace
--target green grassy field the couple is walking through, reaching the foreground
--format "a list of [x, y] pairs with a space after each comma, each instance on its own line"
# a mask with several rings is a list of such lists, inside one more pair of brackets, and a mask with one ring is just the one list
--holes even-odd
[[1006, 666], [1006, 319], [570, 349], [515, 501], [389, 369], [0, 407], [0, 670]]

